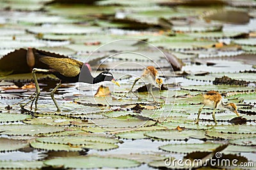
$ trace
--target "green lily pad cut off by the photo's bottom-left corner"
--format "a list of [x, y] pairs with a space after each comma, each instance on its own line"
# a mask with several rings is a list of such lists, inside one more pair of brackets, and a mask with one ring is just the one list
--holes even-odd
[[42, 161], [0, 161], [0, 169], [41, 169], [42, 167], [44, 167]]

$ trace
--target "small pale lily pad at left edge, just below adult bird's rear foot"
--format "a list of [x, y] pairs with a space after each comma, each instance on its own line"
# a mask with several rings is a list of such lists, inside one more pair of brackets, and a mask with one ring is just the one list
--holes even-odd
[[18, 121], [24, 120], [26, 118], [31, 118], [31, 116], [30, 115], [22, 115], [22, 114], [13, 114], [13, 113], [1, 113], [0, 114], [0, 123], [18, 122]]

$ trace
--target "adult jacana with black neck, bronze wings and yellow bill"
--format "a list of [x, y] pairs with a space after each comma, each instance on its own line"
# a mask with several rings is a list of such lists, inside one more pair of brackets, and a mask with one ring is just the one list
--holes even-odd
[[[35, 108], [37, 108], [37, 101], [38, 101], [38, 97], [40, 96], [40, 88], [38, 85], [38, 81], [36, 79], [36, 72], [51, 73], [60, 79], [60, 83], [58, 83], [58, 85], [51, 91], [51, 98], [57, 108], [57, 111], [61, 111], [61, 109], [58, 106], [56, 99], [54, 98], [54, 92], [56, 92], [56, 90], [61, 86], [61, 82], [62, 83], [84, 82], [84, 83], [95, 84], [101, 81], [112, 81], [116, 85], [120, 86], [120, 84], [117, 81], [115, 81], [115, 78], [113, 78], [113, 74], [109, 73], [108, 71], [103, 71], [98, 76], [93, 77], [88, 66], [78, 60], [70, 59], [70, 58], [56, 58], [56, 57], [41, 55], [39, 53], [35, 53], [35, 55], [36, 57], [38, 57], [39, 61], [46, 64], [49, 67], [49, 69], [33, 68], [32, 70], [33, 78], [35, 80], [36, 92], [31, 94], [31, 96], [28, 97], [30, 98], [35, 94], [35, 97], [33, 97], [28, 102], [28, 103], [32, 102], [31, 108], [34, 101], [35, 101]], [[22, 105], [22, 107], [26, 106], [26, 104]]]

